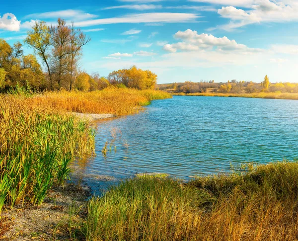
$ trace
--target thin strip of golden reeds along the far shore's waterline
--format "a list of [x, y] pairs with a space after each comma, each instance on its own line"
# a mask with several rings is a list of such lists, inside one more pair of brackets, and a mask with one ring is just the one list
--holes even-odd
[[263, 99], [298, 99], [298, 93], [276, 93], [276, 92], [259, 92], [259, 93], [171, 93], [171, 95], [187, 95], [187, 96], [219, 96], [219, 97], [244, 97], [244, 98], [263, 98]]

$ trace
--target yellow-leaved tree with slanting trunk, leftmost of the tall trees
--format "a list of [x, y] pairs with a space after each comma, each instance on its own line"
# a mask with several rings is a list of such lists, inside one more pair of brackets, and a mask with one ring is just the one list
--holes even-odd
[[53, 88], [52, 73], [50, 65], [48, 63], [50, 54], [49, 49], [51, 47], [50, 42], [50, 32], [49, 28], [44, 21], [36, 21], [32, 30], [28, 31], [28, 36], [24, 42], [31, 48], [34, 49], [35, 53], [43, 60], [47, 66], [49, 79], [50, 79], [50, 88]]

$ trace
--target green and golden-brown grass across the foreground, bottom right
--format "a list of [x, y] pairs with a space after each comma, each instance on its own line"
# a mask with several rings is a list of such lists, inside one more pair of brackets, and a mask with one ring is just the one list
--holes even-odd
[[87, 241], [298, 240], [298, 163], [198, 177], [137, 177], [88, 203]]

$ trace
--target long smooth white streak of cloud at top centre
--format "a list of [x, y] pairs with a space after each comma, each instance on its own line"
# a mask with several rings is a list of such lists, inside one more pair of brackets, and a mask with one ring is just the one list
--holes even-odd
[[173, 13], [173, 12], [151, 12], [140, 14], [129, 14], [122, 17], [100, 18], [86, 21], [79, 21], [75, 23], [77, 27], [86, 27], [100, 24], [114, 24], [114, 23], [178, 23], [194, 21], [198, 17], [193, 13]]

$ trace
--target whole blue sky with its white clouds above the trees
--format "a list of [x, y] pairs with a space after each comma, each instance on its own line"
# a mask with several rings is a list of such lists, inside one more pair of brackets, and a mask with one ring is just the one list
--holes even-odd
[[136, 65], [158, 83], [298, 82], [298, 0], [3, 0], [0, 38], [23, 43], [35, 21], [58, 17], [91, 37], [88, 73]]

